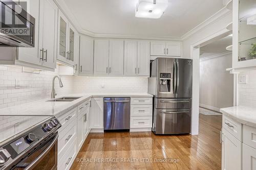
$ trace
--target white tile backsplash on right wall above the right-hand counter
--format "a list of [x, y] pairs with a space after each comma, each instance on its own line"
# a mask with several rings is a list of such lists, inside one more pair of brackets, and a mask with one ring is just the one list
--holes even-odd
[[238, 84], [238, 105], [256, 107], [256, 71], [243, 72], [247, 84]]

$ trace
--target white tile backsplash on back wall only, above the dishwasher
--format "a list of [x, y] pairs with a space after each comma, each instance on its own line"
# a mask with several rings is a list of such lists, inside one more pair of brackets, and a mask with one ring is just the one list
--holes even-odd
[[75, 93], [147, 93], [147, 78], [75, 77]]

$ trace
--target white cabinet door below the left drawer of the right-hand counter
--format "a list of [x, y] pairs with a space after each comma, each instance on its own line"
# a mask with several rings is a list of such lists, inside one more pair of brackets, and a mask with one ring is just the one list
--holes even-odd
[[223, 129], [222, 138], [222, 169], [241, 169], [241, 145], [242, 143], [228, 131]]

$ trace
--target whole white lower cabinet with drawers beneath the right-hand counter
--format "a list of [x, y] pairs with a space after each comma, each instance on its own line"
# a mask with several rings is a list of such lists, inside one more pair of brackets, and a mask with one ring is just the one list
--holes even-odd
[[223, 115], [222, 170], [256, 169], [256, 128]]

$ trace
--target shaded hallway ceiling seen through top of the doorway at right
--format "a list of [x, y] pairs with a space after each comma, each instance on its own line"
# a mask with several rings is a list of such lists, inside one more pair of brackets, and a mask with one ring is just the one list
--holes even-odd
[[200, 47], [201, 58], [227, 52], [226, 47], [232, 44], [232, 36], [227, 36], [222, 39], [216, 40], [210, 44]]

